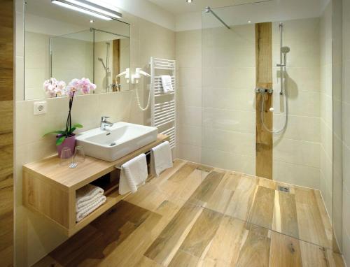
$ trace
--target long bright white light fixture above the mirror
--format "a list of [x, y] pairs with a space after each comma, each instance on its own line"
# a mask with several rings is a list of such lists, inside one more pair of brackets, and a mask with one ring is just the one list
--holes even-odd
[[51, 0], [51, 2], [102, 20], [119, 19], [123, 16], [122, 13], [86, 0]]

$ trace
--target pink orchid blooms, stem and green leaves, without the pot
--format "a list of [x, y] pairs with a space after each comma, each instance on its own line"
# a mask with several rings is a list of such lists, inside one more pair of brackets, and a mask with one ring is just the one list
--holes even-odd
[[81, 124], [71, 124], [71, 108], [73, 107], [74, 96], [80, 92], [81, 94], [89, 94], [91, 90], [96, 89], [96, 85], [90, 82], [87, 78], [73, 79], [69, 82], [68, 86], [64, 81], [58, 81], [55, 78], [50, 78], [49, 80], [45, 80], [43, 83], [43, 89], [50, 97], [55, 96], [68, 96], [69, 97], [69, 113], [66, 120], [66, 128], [64, 130], [50, 131], [46, 133], [46, 135], [50, 133], [57, 134], [56, 145], [61, 145], [64, 139], [73, 136], [74, 131], [77, 128], [83, 128]]

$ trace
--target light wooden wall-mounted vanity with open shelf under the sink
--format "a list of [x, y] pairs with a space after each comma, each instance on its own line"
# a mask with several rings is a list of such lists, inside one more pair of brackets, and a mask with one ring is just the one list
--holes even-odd
[[165, 140], [169, 140], [168, 136], [158, 134], [155, 142], [113, 162], [86, 157], [85, 161], [78, 164], [76, 168], [68, 168], [68, 166], [59, 166], [59, 157], [55, 155], [25, 164], [23, 166], [23, 205], [55, 222], [66, 236], [73, 236], [127, 196], [127, 194], [123, 196], [118, 194], [118, 189], [109, 192], [106, 195], [106, 203], [80, 222], [76, 222], [76, 190], [115, 171], [115, 166], [121, 166], [139, 154], [148, 152]]

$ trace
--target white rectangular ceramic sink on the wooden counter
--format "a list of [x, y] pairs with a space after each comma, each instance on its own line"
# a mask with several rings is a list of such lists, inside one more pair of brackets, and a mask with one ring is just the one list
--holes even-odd
[[157, 140], [158, 129], [139, 124], [117, 122], [106, 130], [84, 131], [76, 137], [87, 156], [115, 161]]

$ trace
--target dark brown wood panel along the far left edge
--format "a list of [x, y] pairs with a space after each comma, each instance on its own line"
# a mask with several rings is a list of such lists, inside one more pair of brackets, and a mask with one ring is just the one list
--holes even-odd
[[0, 262], [13, 266], [13, 0], [0, 8]]

